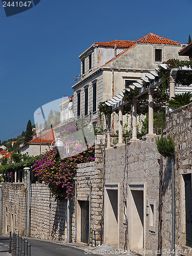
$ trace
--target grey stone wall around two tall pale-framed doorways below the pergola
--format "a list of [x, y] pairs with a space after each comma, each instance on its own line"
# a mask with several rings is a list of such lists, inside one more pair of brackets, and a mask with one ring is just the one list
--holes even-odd
[[[156, 139], [158, 136], [130, 142], [127, 146], [117, 146], [106, 150], [106, 171], [105, 184], [118, 184], [119, 190], [119, 231], [118, 247], [123, 249], [125, 245], [125, 216], [123, 201], [126, 201], [127, 208], [125, 213], [128, 218], [128, 248], [130, 246], [130, 237], [134, 236], [130, 226], [131, 205], [130, 189], [131, 186], [143, 184], [143, 232], [144, 232], [144, 249], [152, 250], [155, 255], [158, 249], [158, 205], [159, 205], [159, 164], [160, 154], [157, 151]], [[163, 248], [170, 248], [170, 231], [171, 231], [171, 201], [170, 197], [170, 169], [167, 168], [167, 160], [163, 159]], [[124, 185], [124, 188], [123, 188]], [[124, 193], [124, 195], [123, 195]], [[168, 200], [167, 200], [168, 199]], [[130, 201], [129, 201], [130, 200]], [[155, 225], [154, 229], [150, 227], [150, 202], [154, 202]], [[106, 222], [106, 220], [105, 220]], [[166, 236], [164, 233], [166, 231]]]

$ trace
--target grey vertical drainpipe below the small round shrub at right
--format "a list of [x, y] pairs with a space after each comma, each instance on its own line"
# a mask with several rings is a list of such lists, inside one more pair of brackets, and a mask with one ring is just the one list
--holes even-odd
[[175, 255], [175, 176], [174, 176], [174, 169], [175, 169], [175, 161], [174, 155], [170, 156], [171, 158], [171, 166], [172, 166], [172, 256]]

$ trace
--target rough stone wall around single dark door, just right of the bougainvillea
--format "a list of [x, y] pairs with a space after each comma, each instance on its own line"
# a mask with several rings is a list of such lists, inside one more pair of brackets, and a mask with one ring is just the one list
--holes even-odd
[[[75, 231], [77, 241], [81, 241], [81, 209], [79, 201], [90, 201], [89, 192], [91, 185], [91, 230], [100, 230], [102, 215], [102, 150], [104, 136], [97, 135], [95, 140], [95, 161], [78, 164], [77, 169], [77, 200], [76, 200], [76, 230], [75, 230], [75, 201], [72, 202], [72, 241], [75, 241]], [[87, 178], [87, 179], [86, 179]]]

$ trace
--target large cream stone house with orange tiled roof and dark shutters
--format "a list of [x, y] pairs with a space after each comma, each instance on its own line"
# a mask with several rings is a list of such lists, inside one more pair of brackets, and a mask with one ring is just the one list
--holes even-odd
[[[74, 118], [89, 117], [94, 124], [98, 104], [108, 100], [130, 84], [154, 70], [164, 60], [179, 57], [183, 44], [153, 33], [137, 41], [114, 40], [94, 42], [80, 56], [80, 81], [74, 90]], [[112, 130], [117, 130], [117, 117], [112, 116]]]

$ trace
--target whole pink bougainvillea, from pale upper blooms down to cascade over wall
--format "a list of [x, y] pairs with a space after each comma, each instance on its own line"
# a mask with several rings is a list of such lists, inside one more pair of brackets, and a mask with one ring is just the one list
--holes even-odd
[[[60, 131], [59, 139], [63, 142], [62, 150], [55, 148], [36, 160], [33, 165], [35, 176], [44, 181], [56, 198], [71, 198], [77, 164], [95, 160], [95, 138], [90, 138], [89, 125], [66, 123]], [[92, 131], [94, 135], [94, 131]], [[89, 144], [87, 143], [87, 139]], [[57, 138], [58, 139], [58, 138]]]

